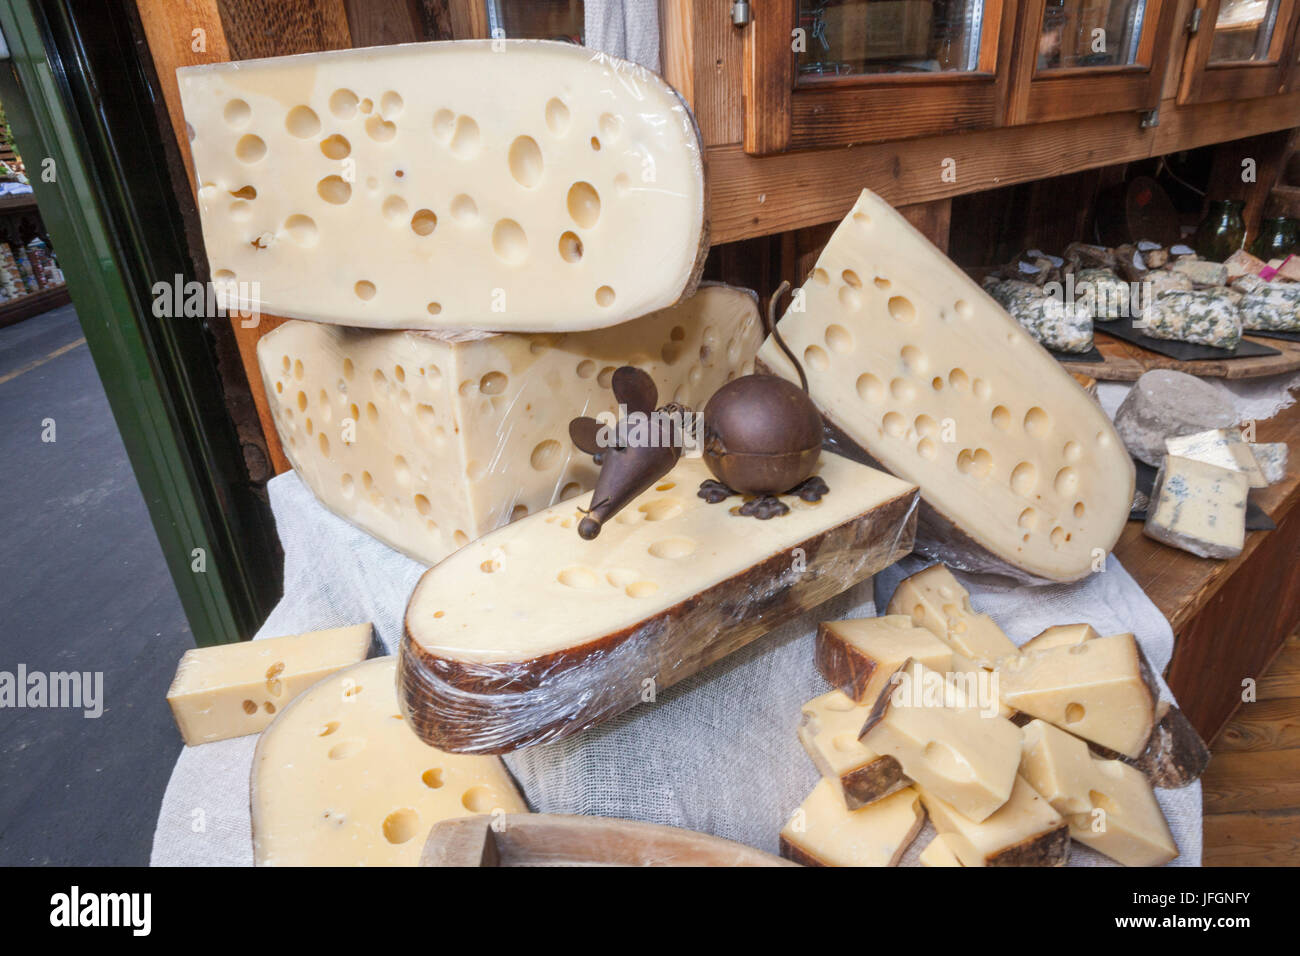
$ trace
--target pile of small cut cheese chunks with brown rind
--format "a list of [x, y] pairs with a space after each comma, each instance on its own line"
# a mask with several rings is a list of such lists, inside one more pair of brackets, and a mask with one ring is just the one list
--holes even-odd
[[[783, 856], [897, 865], [928, 817], [926, 866], [1063, 865], [1071, 842], [1127, 866], [1176, 857], [1152, 787], [1186, 786], [1208, 753], [1160, 704], [1134, 636], [1065, 624], [1017, 648], [968, 598], [933, 564], [889, 614], [822, 624], [818, 669], [837, 689], [803, 708], [822, 779], [781, 830]], [[983, 665], [968, 657], [976, 628], [1002, 650]]]

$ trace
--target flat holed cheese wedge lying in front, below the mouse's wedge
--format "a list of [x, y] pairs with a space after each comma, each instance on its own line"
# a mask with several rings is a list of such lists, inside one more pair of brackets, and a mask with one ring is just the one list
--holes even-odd
[[441, 819], [528, 809], [495, 757], [442, 753], [398, 711], [395, 658], [339, 671], [281, 711], [252, 761], [259, 866], [415, 866]]

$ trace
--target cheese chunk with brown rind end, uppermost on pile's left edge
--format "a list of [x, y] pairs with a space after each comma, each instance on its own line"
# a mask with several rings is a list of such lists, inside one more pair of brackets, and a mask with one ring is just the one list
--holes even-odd
[[818, 670], [859, 704], [875, 704], [889, 676], [909, 658], [946, 672], [953, 650], [930, 631], [913, 627], [904, 614], [826, 620], [818, 627]]

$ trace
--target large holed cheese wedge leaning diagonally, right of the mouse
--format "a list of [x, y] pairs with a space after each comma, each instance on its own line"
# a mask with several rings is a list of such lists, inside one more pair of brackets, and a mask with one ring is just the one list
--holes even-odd
[[[920, 485], [926, 553], [1078, 580], [1128, 519], [1110, 420], [978, 284], [863, 190], [780, 332], [832, 434]], [[771, 338], [763, 365], [797, 373]]]

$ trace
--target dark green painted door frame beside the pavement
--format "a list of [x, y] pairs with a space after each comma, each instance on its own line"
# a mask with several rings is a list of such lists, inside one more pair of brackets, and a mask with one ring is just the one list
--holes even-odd
[[[160, 258], [148, 243], [174, 238], [179, 216], [160, 224], [151, 211], [155, 219], [139, 221], [142, 204], [133, 202], [103, 108], [104, 77], [95, 75], [84, 33], [78, 36], [77, 17], [90, 14], [77, 7], [0, 4], [9, 51], [0, 61], [0, 103], [195, 641], [247, 639], [280, 588], [269, 511], [247, 483], [240, 486], [247, 476], [220, 385], [213, 393], [204, 320], [152, 315], [152, 284], [172, 274], [150, 274]], [[116, 7], [100, 4], [105, 22], [121, 16]], [[142, 155], [148, 163], [143, 147], [135, 160]]]

